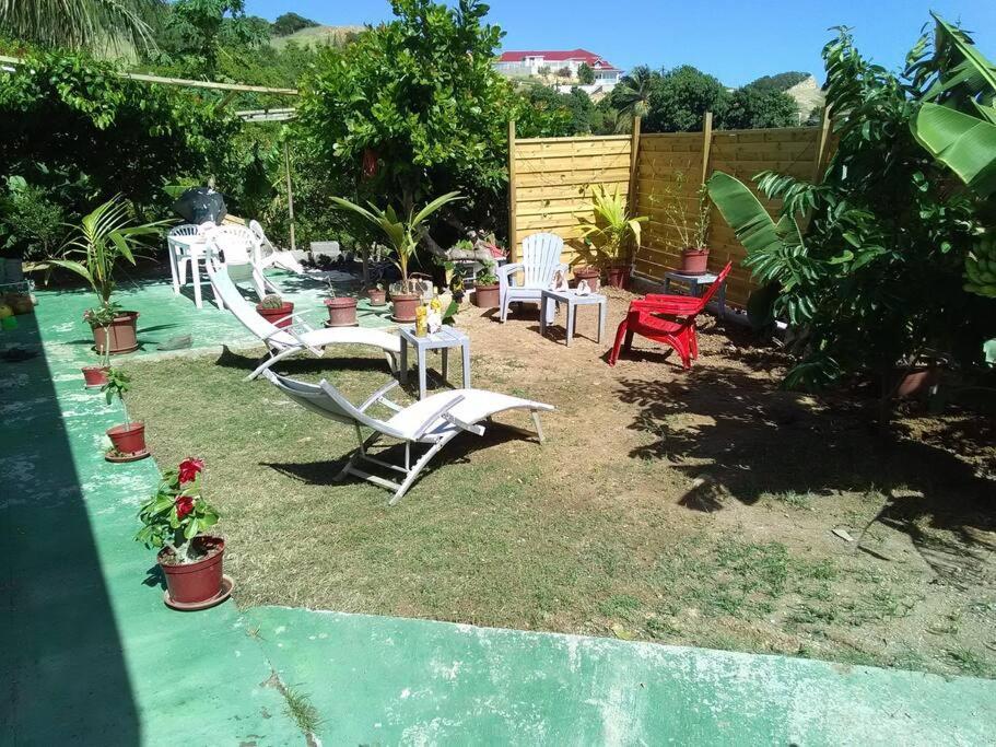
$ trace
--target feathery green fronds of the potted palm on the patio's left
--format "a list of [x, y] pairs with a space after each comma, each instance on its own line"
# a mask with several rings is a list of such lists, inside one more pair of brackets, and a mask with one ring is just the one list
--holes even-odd
[[115, 195], [74, 226], [77, 233], [62, 247], [62, 258], [49, 259], [47, 265], [79, 275], [90, 283], [101, 306], [107, 306], [114, 293], [114, 269], [118, 260], [124, 258], [134, 265], [137, 250], [147, 237], [160, 235], [169, 224], [169, 221], [141, 225], [132, 222], [131, 206]]

